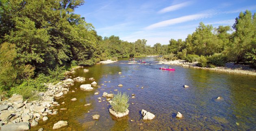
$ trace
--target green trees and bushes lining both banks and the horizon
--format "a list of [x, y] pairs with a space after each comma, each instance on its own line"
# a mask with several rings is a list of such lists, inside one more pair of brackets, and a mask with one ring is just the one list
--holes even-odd
[[214, 56], [256, 63], [256, 15], [240, 13], [233, 26], [213, 28], [200, 23], [185, 41], [171, 39], [168, 45], [147, 45], [147, 40], [127, 42], [118, 36], [102, 38], [91, 23], [74, 10], [84, 0], [1, 0], [0, 2], [0, 90], [24, 90], [36, 83], [62, 79], [70, 66], [91, 66], [100, 60], [169, 55]]

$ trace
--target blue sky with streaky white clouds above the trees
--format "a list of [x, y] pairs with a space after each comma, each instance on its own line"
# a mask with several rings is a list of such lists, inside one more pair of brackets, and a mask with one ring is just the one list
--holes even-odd
[[98, 35], [147, 45], [185, 40], [200, 22], [232, 26], [241, 11], [256, 12], [256, 0], [85, 0], [75, 10]]

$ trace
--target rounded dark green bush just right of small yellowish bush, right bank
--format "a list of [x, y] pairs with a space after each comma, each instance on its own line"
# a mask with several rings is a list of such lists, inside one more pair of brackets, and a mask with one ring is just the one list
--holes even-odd
[[227, 57], [221, 53], [215, 53], [209, 56], [208, 61], [217, 67], [224, 67], [227, 62]]

